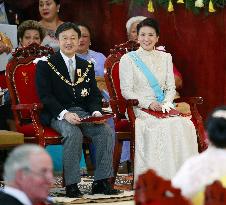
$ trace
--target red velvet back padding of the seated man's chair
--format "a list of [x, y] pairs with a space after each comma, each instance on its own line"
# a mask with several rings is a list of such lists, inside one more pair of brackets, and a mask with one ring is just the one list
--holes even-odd
[[[40, 103], [36, 92], [35, 72], [34, 63], [18, 65], [15, 69], [14, 85], [16, 85], [17, 99], [20, 104]], [[21, 113], [24, 118], [30, 117], [29, 111], [22, 111]]]

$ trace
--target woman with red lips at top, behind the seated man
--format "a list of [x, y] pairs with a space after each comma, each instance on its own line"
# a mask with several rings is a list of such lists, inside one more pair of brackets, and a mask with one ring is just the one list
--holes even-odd
[[54, 51], [59, 50], [58, 40], [55, 37], [56, 29], [63, 21], [59, 18], [60, 0], [39, 0], [40, 25], [46, 30], [42, 45], [49, 46]]

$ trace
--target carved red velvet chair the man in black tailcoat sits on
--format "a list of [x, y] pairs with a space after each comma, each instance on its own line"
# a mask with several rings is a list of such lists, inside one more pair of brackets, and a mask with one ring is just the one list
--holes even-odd
[[33, 60], [53, 54], [51, 48], [32, 44], [19, 48], [6, 67], [6, 81], [9, 89], [12, 111], [18, 132], [24, 134], [24, 141], [41, 146], [61, 144], [61, 136], [50, 127], [42, 126], [39, 114], [42, 104], [36, 92]]

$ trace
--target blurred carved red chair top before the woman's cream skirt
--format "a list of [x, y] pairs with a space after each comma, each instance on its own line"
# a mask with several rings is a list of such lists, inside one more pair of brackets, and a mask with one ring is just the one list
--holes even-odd
[[163, 179], [153, 170], [139, 176], [134, 198], [136, 205], [191, 205], [180, 189], [172, 187], [170, 180]]

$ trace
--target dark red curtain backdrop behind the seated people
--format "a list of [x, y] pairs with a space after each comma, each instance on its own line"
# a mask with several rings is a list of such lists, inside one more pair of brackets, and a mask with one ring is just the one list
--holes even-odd
[[[155, 17], [160, 23], [159, 45], [166, 46], [182, 73], [181, 94], [204, 98], [200, 107], [204, 118], [214, 107], [226, 104], [226, 9], [209, 16], [195, 15], [177, 4], [172, 13], [158, 9], [151, 14], [140, 7], [128, 11], [127, 5], [111, 5], [108, 0], [61, 2], [62, 20], [87, 23], [93, 32], [92, 48], [106, 56], [115, 44], [126, 41], [125, 23], [130, 16]], [[25, 14], [30, 19], [40, 18], [37, 0]]]

